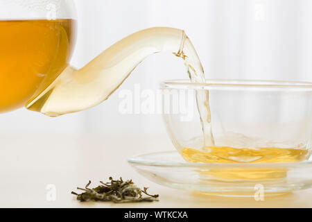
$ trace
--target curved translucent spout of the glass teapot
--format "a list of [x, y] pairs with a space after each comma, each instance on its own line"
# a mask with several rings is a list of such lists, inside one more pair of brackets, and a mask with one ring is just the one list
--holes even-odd
[[184, 31], [176, 28], [148, 28], [129, 35], [82, 69], [65, 68], [26, 108], [50, 117], [92, 108], [105, 101], [146, 57], [166, 51], [183, 58], [186, 39]]

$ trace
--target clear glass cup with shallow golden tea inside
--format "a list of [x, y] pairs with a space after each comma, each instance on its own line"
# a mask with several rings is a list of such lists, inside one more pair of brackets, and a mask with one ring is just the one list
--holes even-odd
[[[168, 135], [189, 162], [299, 162], [311, 155], [312, 83], [168, 80], [161, 88]], [[214, 146], [205, 144], [198, 115], [203, 91]]]

